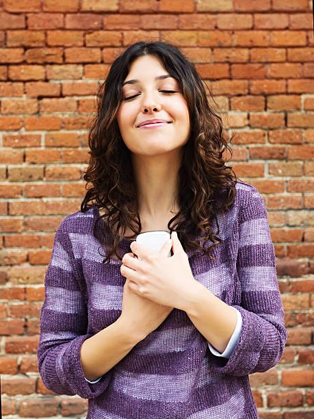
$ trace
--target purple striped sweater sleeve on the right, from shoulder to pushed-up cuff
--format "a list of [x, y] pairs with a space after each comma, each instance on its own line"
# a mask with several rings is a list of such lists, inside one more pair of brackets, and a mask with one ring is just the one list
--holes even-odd
[[241, 313], [241, 333], [229, 359], [209, 354], [215, 370], [235, 376], [264, 372], [278, 364], [287, 340], [267, 211], [259, 191], [251, 188], [237, 220], [235, 281], [241, 288], [241, 303], [233, 307]]

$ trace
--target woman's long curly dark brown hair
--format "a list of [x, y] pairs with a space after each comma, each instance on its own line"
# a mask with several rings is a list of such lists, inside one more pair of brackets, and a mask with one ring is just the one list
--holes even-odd
[[[96, 205], [102, 215], [94, 224], [93, 234], [106, 254], [103, 262], [118, 253], [123, 238], [132, 240], [142, 231], [138, 213], [131, 151], [122, 140], [117, 112], [122, 103], [122, 84], [134, 60], [155, 55], [168, 73], [179, 81], [189, 109], [191, 134], [183, 146], [179, 169], [179, 212], [168, 223], [176, 231], [185, 251], [209, 252], [221, 242], [218, 237], [218, 211], [224, 211], [235, 199], [236, 176], [226, 166], [223, 154], [232, 150], [224, 138], [222, 118], [207, 100], [205, 86], [192, 62], [178, 47], [167, 42], [136, 42], [113, 62], [97, 94], [98, 109], [88, 136], [90, 162], [83, 179], [86, 195], [81, 212]], [[208, 89], [208, 88], [207, 88]], [[209, 91], [209, 90], [208, 90]], [[209, 91], [211, 99], [213, 99]], [[102, 223], [100, 236], [97, 224]], [[214, 222], [216, 227], [214, 227]], [[134, 235], [125, 237], [127, 226]], [[212, 244], [208, 246], [208, 242]]]

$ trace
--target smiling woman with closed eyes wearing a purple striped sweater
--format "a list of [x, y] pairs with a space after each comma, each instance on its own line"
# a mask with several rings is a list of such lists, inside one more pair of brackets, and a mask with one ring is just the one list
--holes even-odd
[[[44, 385], [88, 398], [93, 419], [258, 418], [248, 374], [287, 339], [274, 246], [194, 65], [166, 42], [131, 45], [89, 142], [90, 187], [45, 279]], [[172, 233], [160, 253], [135, 241], [152, 230]]]

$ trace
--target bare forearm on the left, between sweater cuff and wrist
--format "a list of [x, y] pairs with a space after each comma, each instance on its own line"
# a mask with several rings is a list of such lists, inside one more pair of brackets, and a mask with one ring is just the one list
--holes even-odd
[[94, 381], [127, 355], [140, 337], [124, 326], [120, 318], [85, 340], [81, 346], [81, 364], [86, 379]]

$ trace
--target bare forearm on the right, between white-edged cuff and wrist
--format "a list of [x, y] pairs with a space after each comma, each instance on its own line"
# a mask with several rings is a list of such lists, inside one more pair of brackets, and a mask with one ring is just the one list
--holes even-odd
[[224, 352], [237, 325], [235, 310], [199, 282], [194, 283], [183, 310], [206, 340]]

